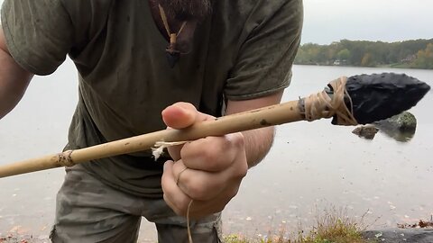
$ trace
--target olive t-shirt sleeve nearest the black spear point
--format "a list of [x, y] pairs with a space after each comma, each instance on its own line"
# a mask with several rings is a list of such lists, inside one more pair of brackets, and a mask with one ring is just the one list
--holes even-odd
[[[251, 30], [226, 81], [228, 100], [275, 93], [290, 85], [291, 66], [299, 48], [302, 1], [259, 1], [245, 29]], [[249, 26], [248, 26], [249, 24]]]

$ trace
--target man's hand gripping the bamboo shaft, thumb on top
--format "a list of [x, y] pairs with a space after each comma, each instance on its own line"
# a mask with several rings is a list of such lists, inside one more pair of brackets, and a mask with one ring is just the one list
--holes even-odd
[[[162, 111], [172, 129], [184, 129], [214, 117], [198, 112], [190, 103], [175, 103]], [[248, 170], [242, 133], [207, 137], [169, 148], [162, 175], [164, 200], [179, 215], [199, 218], [222, 211], [235, 196]]]

